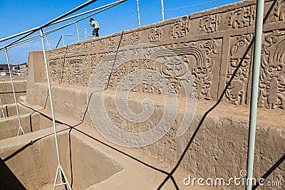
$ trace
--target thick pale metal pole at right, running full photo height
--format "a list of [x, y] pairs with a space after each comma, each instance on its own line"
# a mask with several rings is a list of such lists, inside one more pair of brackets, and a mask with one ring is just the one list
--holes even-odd
[[259, 70], [261, 60], [261, 43], [262, 43], [262, 25], [264, 14], [264, 0], [257, 0], [257, 16], [255, 21], [254, 35], [254, 65], [252, 68], [252, 92], [250, 99], [249, 114], [249, 142], [247, 152], [247, 187], [246, 190], [252, 189], [252, 176], [254, 170], [254, 144], [255, 132], [257, 125], [257, 100], [259, 88]]

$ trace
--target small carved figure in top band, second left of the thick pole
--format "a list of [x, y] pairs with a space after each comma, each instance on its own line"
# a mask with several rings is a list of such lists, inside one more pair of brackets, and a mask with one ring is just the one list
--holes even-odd
[[217, 26], [219, 25], [218, 14], [204, 16], [199, 23], [199, 27], [203, 32], [212, 33], [217, 31]]

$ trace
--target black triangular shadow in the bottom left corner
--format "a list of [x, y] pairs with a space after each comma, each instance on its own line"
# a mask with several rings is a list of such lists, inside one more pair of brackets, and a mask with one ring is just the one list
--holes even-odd
[[1, 190], [26, 190], [21, 184], [19, 179], [13, 174], [13, 172], [7, 167], [5, 162], [0, 158], [0, 189]]

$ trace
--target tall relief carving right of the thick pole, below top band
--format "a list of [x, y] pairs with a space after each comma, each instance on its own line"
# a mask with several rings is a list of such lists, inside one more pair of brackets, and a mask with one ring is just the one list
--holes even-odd
[[265, 35], [261, 54], [259, 107], [285, 109], [285, 32]]

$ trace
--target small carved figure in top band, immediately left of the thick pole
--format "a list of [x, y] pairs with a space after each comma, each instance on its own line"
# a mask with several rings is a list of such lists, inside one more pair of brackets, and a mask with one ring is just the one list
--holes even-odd
[[229, 26], [244, 28], [254, 23], [255, 10], [253, 6], [242, 7], [232, 11], [229, 17]]

